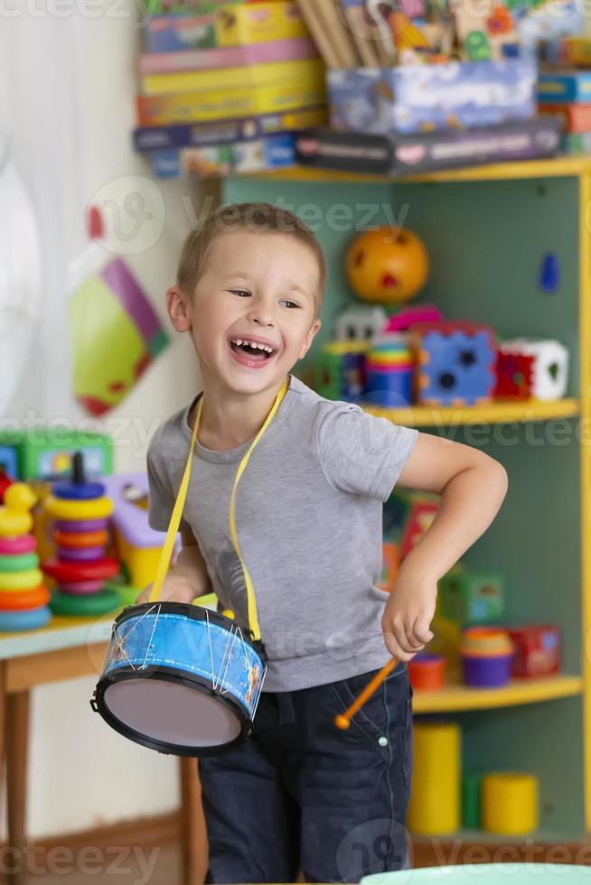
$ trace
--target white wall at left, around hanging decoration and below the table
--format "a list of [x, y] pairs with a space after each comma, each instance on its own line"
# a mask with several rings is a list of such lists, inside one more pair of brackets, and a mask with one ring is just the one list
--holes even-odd
[[[197, 208], [201, 198], [186, 182], [151, 184], [148, 166], [131, 150], [140, 40], [132, 0], [126, 5], [5, 0], [0, 17], [0, 132], [8, 128], [13, 134], [14, 161], [41, 220], [45, 262], [38, 356], [10, 416], [33, 409], [46, 420], [76, 422], [82, 413], [70, 394], [66, 265], [85, 247], [85, 206], [97, 191], [94, 201], [107, 194], [122, 212], [130, 191], [152, 200], [157, 236], [148, 225], [136, 246], [127, 242], [123, 249], [164, 318], [164, 290], [189, 229], [185, 203]], [[196, 389], [190, 342], [175, 340], [106, 421], [108, 430], [120, 434], [117, 470], [143, 469], [156, 424]], [[125, 741], [92, 714], [94, 682], [77, 679], [33, 692], [28, 814], [33, 836], [178, 805], [175, 760]]]

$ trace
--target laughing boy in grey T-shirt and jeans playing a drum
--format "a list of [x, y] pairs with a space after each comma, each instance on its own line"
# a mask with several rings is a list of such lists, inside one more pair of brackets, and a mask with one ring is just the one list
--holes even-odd
[[[192, 601], [212, 587], [248, 625], [230, 493], [288, 382], [237, 491], [269, 666], [250, 740], [200, 761], [212, 882], [290, 882], [299, 870], [307, 881], [358, 881], [408, 865], [405, 662], [432, 638], [436, 582], [490, 525], [507, 487], [483, 452], [324, 399], [290, 374], [320, 328], [325, 276], [303, 222], [239, 204], [192, 231], [166, 296], [174, 329], [192, 337], [202, 394], [150, 444], [156, 529], [168, 525], [199, 396], [202, 422], [183, 550], [161, 599]], [[397, 482], [442, 498], [388, 598], [376, 587], [382, 504]], [[391, 655], [399, 666], [337, 731], [335, 715]]]

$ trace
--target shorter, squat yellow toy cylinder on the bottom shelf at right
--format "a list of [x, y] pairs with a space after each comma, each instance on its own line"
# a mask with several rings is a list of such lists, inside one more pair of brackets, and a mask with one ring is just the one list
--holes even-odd
[[525, 835], [538, 827], [538, 778], [519, 771], [486, 775], [482, 786], [483, 829], [497, 835]]

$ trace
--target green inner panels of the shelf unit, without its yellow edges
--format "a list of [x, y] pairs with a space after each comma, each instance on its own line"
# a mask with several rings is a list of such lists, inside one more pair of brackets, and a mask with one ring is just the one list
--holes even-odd
[[[429, 251], [431, 277], [416, 303], [436, 303], [448, 319], [488, 323], [501, 338], [562, 341], [571, 358], [568, 394], [577, 396], [577, 189], [571, 178], [415, 185], [235, 178], [225, 183], [224, 200], [279, 202], [312, 222], [323, 244], [329, 264], [323, 328], [296, 366], [306, 381], [319, 345], [332, 337], [334, 317], [355, 301], [343, 272], [348, 244], [368, 220], [375, 226], [396, 219], [416, 231]], [[539, 291], [547, 254], [559, 262], [558, 289], [551, 294]], [[505, 466], [510, 490], [501, 514], [464, 561], [506, 574], [512, 623], [558, 623], [565, 640], [564, 669], [580, 673], [577, 422], [430, 432], [483, 448]], [[534, 771], [540, 779], [543, 829], [582, 833], [580, 698], [465, 713], [457, 719], [465, 731], [464, 764]]]

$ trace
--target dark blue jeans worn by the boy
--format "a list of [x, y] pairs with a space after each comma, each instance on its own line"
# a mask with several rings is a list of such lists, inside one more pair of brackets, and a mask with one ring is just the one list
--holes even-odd
[[[375, 672], [375, 671], [374, 671]], [[210, 882], [358, 882], [408, 866], [412, 689], [399, 665], [352, 720], [372, 673], [264, 693], [250, 740], [199, 763]]]

